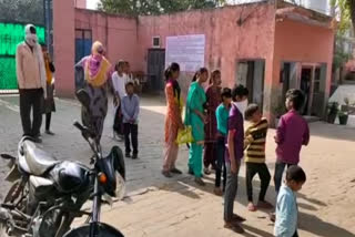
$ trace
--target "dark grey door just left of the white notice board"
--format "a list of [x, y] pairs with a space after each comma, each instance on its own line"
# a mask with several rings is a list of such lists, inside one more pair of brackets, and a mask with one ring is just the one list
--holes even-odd
[[165, 68], [165, 50], [149, 49], [148, 50], [148, 78], [149, 85], [152, 91], [161, 92], [164, 90], [164, 68]]

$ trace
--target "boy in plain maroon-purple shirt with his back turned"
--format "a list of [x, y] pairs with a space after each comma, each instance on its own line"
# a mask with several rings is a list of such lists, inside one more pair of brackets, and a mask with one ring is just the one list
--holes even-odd
[[282, 175], [285, 166], [297, 165], [302, 145], [310, 143], [310, 127], [307, 122], [298, 114], [304, 104], [304, 95], [300, 90], [292, 89], [286, 93], [287, 113], [278, 122], [275, 142], [276, 165], [275, 165], [275, 189], [278, 193]]

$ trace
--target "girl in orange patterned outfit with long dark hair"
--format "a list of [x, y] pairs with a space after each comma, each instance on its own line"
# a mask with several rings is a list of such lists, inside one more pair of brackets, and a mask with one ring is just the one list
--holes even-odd
[[172, 63], [165, 71], [165, 96], [166, 96], [166, 116], [165, 116], [165, 152], [162, 174], [165, 177], [172, 177], [173, 174], [182, 174], [175, 167], [179, 153], [179, 145], [175, 143], [179, 128], [184, 128], [181, 118], [182, 100], [181, 89], [178, 82], [180, 75], [180, 65]]

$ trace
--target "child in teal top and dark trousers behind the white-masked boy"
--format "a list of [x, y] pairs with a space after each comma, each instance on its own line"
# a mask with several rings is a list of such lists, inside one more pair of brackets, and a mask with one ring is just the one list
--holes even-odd
[[[215, 111], [217, 121], [217, 142], [216, 142], [216, 171], [215, 171], [215, 188], [214, 194], [222, 196], [225, 190], [226, 171], [224, 162], [225, 138], [227, 134], [229, 114], [232, 101], [232, 91], [229, 87], [222, 90], [222, 103]], [[221, 189], [221, 176], [223, 172], [223, 189]]]

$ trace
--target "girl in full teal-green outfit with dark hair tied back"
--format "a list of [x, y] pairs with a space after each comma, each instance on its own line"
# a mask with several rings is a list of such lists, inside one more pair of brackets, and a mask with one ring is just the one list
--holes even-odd
[[189, 155], [189, 173], [194, 174], [195, 183], [204, 186], [202, 181], [202, 151], [204, 145], [204, 124], [206, 116], [204, 107], [206, 103], [206, 95], [202, 84], [209, 79], [209, 71], [201, 68], [193, 76], [192, 84], [187, 93], [185, 125], [192, 127], [192, 136], [194, 142], [190, 147]]

